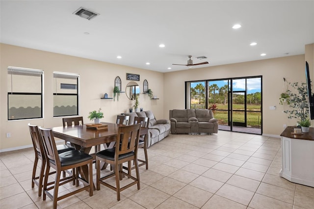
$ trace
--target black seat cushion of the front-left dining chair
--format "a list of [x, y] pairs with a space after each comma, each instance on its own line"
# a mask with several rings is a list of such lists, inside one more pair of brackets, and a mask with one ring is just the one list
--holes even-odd
[[[93, 159], [92, 156], [78, 150], [71, 150], [68, 152], [61, 153], [59, 154], [59, 158], [60, 158], [61, 166], [73, 165], [79, 162]], [[49, 160], [49, 161], [55, 164], [53, 160]]]

